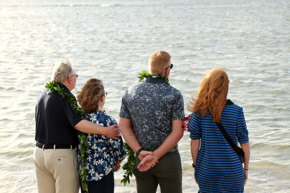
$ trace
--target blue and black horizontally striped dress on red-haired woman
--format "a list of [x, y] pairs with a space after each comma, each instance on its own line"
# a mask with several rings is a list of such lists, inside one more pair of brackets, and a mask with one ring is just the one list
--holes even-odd
[[[249, 141], [243, 108], [227, 100], [221, 123], [233, 142]], [[240, 158], [226, 141], [208, 112], [205, 117], [192, 113], [190, 138], [200, 139], [195, 166], [199, 192], [244, 192], [244, 170]]]

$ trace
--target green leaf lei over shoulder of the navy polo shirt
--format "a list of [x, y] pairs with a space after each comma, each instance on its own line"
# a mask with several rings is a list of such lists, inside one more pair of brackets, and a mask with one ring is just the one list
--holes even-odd
[[[78, 106], [74, 95], [64, 92], [64, 88], [61, 89], [59, 87], [59, 85], [55, 84], [53, 81], [51, 81], [49, 83], [46, 82], [45, 87], [52, 92], [57, 91], [59, 93], [59, 95], [62, 96], [62, 98], [65, 98], [66, 101], [70, 103], [70, 105], [72, 106], [75, 113], [79, 113], [81, 115], [84, 115], [84, 111], [81, 109], [81, 107]], [[80, 135], [79, 140], [81, 141], [81, 143], [80, 143], [81, 155], [80, 155], [80, 159], [79, 159], [79, 162], [81, 164], [81, 168], [79, 168], [79, 176], [81, 179], [81, 187], [83, 188], [83, 190], [86, 191], [86, 193], [88, 193], [88, 183], [86, 181], [86, 175], [87, 175], [86, 158], [88, 157], [87, 149], [89, 147], [89, 144], [88, 144], [88, 141], [86, 140], [87, 137], [83, 132], [80, 132], [79, 135]]]

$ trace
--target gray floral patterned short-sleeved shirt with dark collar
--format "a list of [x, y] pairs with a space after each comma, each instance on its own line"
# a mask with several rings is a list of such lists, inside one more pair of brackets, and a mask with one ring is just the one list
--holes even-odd
[[162, 78], [144, 78], [127, 89], [119, 116], [131, 119], [139, 144], [154, 151], [172, 132], [172, 120], [184, 119], [183, 97]]

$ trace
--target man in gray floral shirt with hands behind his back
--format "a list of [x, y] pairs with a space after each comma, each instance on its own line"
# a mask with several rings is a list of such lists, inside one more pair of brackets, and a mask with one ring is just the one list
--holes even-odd
[[122, 99], [119, 128], [136, 152], [133, 174], [138, 193], [155, 193], [158, 185], [161, 192], [182, 192], [177, 142], [183, 136], [184, 102], [179, 90], [156, 76], [168, 78], [172, 67], [167, 52], [153, 53], [148, 62], [153, 78], [128, 88]]

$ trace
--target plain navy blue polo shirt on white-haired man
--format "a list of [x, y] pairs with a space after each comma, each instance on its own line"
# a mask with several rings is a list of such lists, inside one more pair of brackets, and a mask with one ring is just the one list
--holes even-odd
[[[66, 86], [59, 87], [71, 94]], [[77, 145], [75, 125], [83, 119], [57, 92], [44, 90], [35, 107], [35, 141], [44, 145]]]

